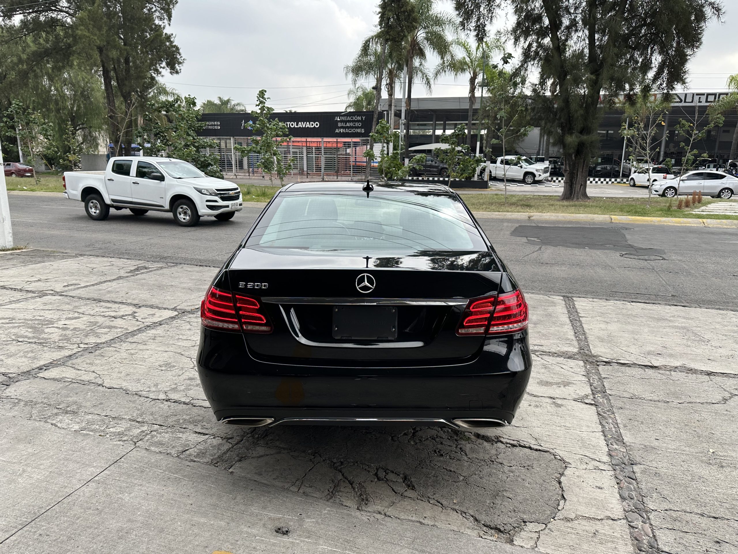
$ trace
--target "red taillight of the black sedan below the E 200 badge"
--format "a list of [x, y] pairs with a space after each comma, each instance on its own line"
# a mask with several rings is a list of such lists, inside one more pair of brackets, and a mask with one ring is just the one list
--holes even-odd
[[259, 308], [256, 298], [233, 295], [227, 290], [210, 287], [200, 304], [200, 321], [209, 329], [270, 333], [272, 326]]

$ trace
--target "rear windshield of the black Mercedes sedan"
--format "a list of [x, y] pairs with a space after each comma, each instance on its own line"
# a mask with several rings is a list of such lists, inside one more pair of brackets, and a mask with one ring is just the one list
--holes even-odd
[[275, 198], [246, 246], [306, 250], [487, 250], [461, 202], [409, 191], [286, 193]]

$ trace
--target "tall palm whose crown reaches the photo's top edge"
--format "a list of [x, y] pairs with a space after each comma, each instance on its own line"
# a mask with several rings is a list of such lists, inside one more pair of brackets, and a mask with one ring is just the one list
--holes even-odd
[[435, 0], [411, 0], [418, 14], [417, 24], [404, 43], [407, 68], [407, 95], [405, 96], [405, 157], [410, 143], [410, 105], [413, 100], [415, 69], [427, 60], [429, 54], [441, 58], [443, 64], [452, 53], [452, 38], [458, 32], [456, 18], [450, 13], [435, 10]]

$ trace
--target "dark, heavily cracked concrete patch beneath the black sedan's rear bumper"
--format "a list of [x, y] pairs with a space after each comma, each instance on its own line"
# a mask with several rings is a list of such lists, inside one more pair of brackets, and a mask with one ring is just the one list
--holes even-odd
[[548, 523], [562, 497], [551, 453], [441, 428], [275, 427], [229, 454], [236, 475], [492, 538]]

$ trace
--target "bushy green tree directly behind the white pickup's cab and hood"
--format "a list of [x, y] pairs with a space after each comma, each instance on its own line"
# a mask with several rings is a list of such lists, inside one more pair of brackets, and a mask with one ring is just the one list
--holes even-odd
[[184, 160], [210, 177], [222, 178], [218, 154], [207, 153], [207, 148], [218, 148], [218, 143], [197, 135], [206, 125], [201, 115], [192, 96], [149, 102], [140, 129], [142, 142], [151, 145], [144, 146], [144, 154]]

